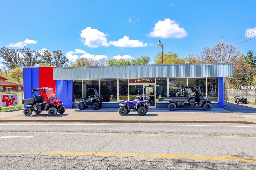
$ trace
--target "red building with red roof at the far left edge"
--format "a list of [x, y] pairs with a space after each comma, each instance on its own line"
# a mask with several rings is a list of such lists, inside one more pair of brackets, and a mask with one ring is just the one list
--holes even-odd
[[22, 92], [23, 91], [23, 84], [7, 82], [5, 80], [8, 80], [8, 79], [0, 76], [0, 91], [1, 92], [6, 92], [6, 91]]

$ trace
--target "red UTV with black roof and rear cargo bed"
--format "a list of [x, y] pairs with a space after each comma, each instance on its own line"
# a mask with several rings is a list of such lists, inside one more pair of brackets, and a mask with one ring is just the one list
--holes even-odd
[[[38, 93], [39, 95], [35, 95]], [[55, 116], [58, 113], [63, 114], [65, 112], [65, 107], [62, 106], [60, 100], [57, 99], [52, 88], [34, 88], [32, 90], [33, 99], [22, 99], [22, 104], [26, 104], [27, 108], [23, 110], [25, 116], [30, 116], [32, 112], [39, 114], [42, 111], [47, 111], [50, 116]], [[46, 101], [44, 100], [46, 97]]]

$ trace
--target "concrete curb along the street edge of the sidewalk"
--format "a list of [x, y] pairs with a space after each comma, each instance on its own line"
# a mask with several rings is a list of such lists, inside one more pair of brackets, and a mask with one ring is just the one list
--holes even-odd
[[232, 124], [256, 124], [248, 121], [155, 121], [155, 120], [0, 120], [0, 123], [232, 123]]

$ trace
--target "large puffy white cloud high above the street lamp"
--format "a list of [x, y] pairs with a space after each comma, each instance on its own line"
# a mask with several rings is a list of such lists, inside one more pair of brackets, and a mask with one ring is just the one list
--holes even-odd
[[187, 36], [187, 32], [184, 28], [179, 27], [179, 24], [169, 18], [165, 18], [164, 21], [159, 20], [152, 32], [149, 33], [149, 37], [161, 37], [161, 38], [183, 38]]

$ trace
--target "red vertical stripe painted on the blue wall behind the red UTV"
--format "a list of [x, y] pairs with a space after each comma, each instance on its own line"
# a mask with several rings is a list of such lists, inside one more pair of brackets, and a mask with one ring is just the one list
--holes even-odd
[[[53, 67], [39, 67], [39, 86], [53, 88], [56, 93], [55, 80], [53, 80]], [[46, 101], [46, 96], [44, 96]]]

